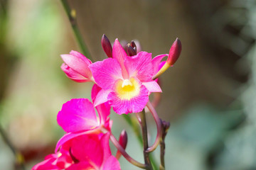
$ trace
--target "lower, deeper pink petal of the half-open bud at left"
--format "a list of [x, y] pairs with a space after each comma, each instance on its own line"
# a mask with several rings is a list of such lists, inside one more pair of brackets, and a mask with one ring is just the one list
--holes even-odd
[[78, 72], [75, 72], [75, 70], [68, 67], [68, 65], [66, 65], [65, 63], [63, 63], [60, 68], [63, 70], [63, 72], [65, 72], [66, 76], [73, 81], [76, 81], [78, 83], [91, 81], [90, 79], [85, 78]]

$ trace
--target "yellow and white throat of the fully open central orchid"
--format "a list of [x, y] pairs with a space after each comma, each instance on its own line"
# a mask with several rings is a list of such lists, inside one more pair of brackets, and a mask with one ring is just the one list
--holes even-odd
[[119, 98], [130, 100], [139, 94], [139, 82], [134, 78], [119, 79], [117, 80], [115, 89]]

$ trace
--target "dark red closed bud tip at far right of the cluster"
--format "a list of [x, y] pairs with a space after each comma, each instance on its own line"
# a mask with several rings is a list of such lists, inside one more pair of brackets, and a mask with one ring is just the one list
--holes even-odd
[[181, 40], [176, 40], [174, 41], [173, 45], [171, 45], [171, 49], [169, 51], [169, 56], [166, 61], [169, 65], [173, 65], [177, 60], [178, 57], [181, 55]]

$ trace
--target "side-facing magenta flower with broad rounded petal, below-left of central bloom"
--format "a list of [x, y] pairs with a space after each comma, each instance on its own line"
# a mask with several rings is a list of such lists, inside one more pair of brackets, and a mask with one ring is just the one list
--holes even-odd
[[[92, 89], [92, 98], [95, 98], [98, 87]], [[93, 100], [92, 100], [93, 101]], [[102, 128], [110, 130], [112, 121], [110, 105], [102, 103], [96, 107], [99, 114], [97, 117], [93, 104], [87, 98], [71, 99], [63, 104], [57, 115], [57, 122], [65, 132], [68, 132], [57, 143], [56, 150], [68, 140], [85, 134], [99, 134]]]

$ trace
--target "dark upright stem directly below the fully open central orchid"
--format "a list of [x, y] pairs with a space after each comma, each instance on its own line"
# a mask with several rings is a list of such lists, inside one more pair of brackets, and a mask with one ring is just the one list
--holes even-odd
[[148, 147], [149, 147], [149, 142], [148, 142], [147, 128], [146, 128], [146, 115], [145, 115], [145, 110], [144, 109], [141, 112], [140, 120], [141, 120], [140, 124], [142, 126], [144, 161], [145, 161], [145, 164], [146, 164], [146, 169], [152, 170], [153, 167], [152, 167], [150, 159], [149, 159], [149, 152], [147, 152]]

